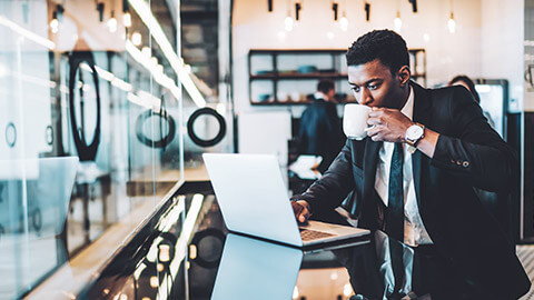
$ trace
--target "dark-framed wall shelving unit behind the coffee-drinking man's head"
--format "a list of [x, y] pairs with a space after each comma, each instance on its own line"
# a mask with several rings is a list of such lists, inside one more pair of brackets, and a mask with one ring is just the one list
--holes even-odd
[[[426, 51], [409, 49], [413, 79], [426, 86]], [[308, 104], [320, 79], [336, 83], [340, 102], [354, 102], [347, 83], [346, 49], [251, 49], [248, 92], [253, 106]]]

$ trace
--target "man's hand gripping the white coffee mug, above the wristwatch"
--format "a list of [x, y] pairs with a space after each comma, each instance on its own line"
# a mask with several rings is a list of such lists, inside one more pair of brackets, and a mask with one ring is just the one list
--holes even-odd
[[387, 108], [372, 108], [367, 123], [370, 139], [388, 142], [404, 142], [406, 130], [414, 124], [399, 110]]

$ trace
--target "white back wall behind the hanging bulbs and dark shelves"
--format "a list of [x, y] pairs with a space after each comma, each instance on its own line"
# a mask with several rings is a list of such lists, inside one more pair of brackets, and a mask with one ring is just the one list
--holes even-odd
[[[294, 1], [290, 2], [294, 16]], [[346, 32], [334, 22], [330, 1], [303, 1], [300, 21], [290, 32], [284, 30], [288, 1], [274, 0], [273, 12], [267, 11], [267, 0], [234, 1], [233, 71], [238, 114], [268, 110], [289, 111], [299, 117], [303, 110], [303, 107], [249, 104], [247, 53], [250, 49], [347, 49], [367, 31], [393, 29], [398, 4], [403, 20], [400, 34], [408, 48], [426, 49], [427, 87], [447, 82], [458, 73], [473, 78], [504, 78], [511, 82], [511, 97], [522, 101], [523, 0], [453, 1], [455, 33], [449, 33], [447, 28], [449, 0], [419, 0], [417, 13], [412, 12], [405, 0], [369, 0], [369, 22], [365, 20], [363, 0], [337, 2], [339, 17], [346, 10], [349, 20]], [[280, 137], [287, 136], [289, 130]], [[240, 144], [246, 142], [239, 137]]]

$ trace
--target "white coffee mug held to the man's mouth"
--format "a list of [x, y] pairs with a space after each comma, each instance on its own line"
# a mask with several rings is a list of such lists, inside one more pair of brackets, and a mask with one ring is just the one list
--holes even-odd
[[370, 108], [362, 104], [345, 104], [343, 131], [348, 139], [362, 140], [367, 137], [367, 119]]

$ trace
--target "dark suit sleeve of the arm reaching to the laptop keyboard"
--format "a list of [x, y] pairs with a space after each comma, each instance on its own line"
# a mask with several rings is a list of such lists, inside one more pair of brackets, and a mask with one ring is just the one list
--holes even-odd
[[306, 200], [312, 213], [335, 209], [354, 188], [350, 141], [347, 140], [339, 154], [325, 174], [303, 194], [291, 197], [293, 200]]

